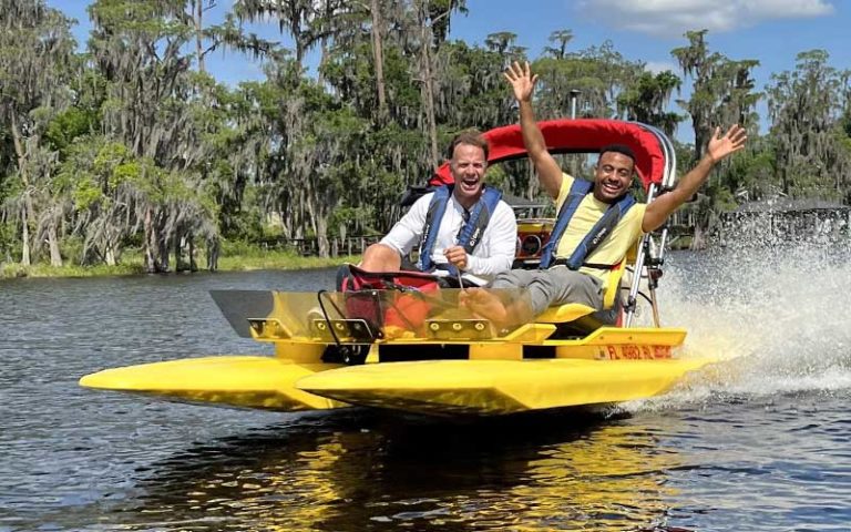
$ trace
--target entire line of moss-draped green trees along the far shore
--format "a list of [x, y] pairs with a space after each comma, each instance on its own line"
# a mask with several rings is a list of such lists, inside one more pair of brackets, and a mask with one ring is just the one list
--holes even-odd
[[[327, 246], [331, 236], [385, 233], [401, 214], [406, 187], [431, 176], [432, 139], [442, 149], [462, 129], [516, 122], [503, 71], [526, 50], [511, 31], [482, 45], [448, 41], [466, 2], [285, 3], [293, 9], [239, 0], [223, 24], [197, 28], [184, 0], [94, 0], [80, 54], [60, 12], [34, 9], [41, 1], [14, 4], [24, 23], [0, 35], [0, 259], [21, 257], [24, 228], [35, 253], [47, 255], [38, 247], [50, 227], [65, 259], [119, 264], [111, 268], [162, 270], [178, 242], [192, 241], [203, 257], [223, 235], [225, 257], [255, 257], [253, 267], [296, 264], [291, 254], [265, 262], [262, 243], [317, 237]], [[263, 17], [291, 38], [294, 53], [239, 25]], [[751, 78], [758, 62], [714, 52], [706, 35], [689, 32], [687, 45], [671, 52], [693, 83], [679, 102], [695, 130], [694, 145], [676, 146], [680, 173], [716, 124], [741, 122], [750, 140], [691, 206], [699, 223], [781, 193], [851, 201], [849, 72], [830, 66], [823, 51], [802, 53], [793, 72], [767, 88], [771, 131], [760, 139], [762, 94]], [[314, 79], [304, 58], [320, 43]], [[554, 31], [534, 61], [539, 119], [568, 116], [575, 90], [578, 116], [638, 120], [673, 133], [683, 120], [670, 111], [676, 74], [647, 72], [611, 42], [572, 44], [570, 29]], [[260, 58], [266, 78], [217, 83], [203, 59], [222, 48]], [[575, 172], [585, 164], [562, 162]], [[488, 182], [540, 194], [526, 161], [491, 167]]]

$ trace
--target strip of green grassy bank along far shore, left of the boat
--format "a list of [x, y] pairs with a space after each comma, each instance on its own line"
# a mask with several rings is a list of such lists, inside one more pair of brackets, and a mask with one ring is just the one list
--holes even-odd
[[[318, 257], [301, 256], [289, 250], [262, 250], [254, 253], [238, 253], [223, 256], [218, 259], [218, 269], [216, 272], [253, 272], [259, 269], [312, 269], [328, 268], [339, 266], [344, 263], [358, 263], [360, 255], [341, 255], [338, 257]], [[196, 264], [205, 264], [204, 257], [196, 258]], [[191, 270], [188, 268], [175, 270], [172, 268], [167, 273], [153, 275], [182, 275], [188, 273], [211, 273], [206, 268]], [[48, 277], [110, 277], [125, 275], [147, 275], [143, 256], [132, 255], [122, 259], [121, 264], [107, 266], [103, 264], [80, 266], [66, 264], [64, 266], [50, 266], [49, 264], [38, 263], [30, 266], [23, 266], [19, 263], [0, 263], [0, 279], [13, 278], [48, 278]]]

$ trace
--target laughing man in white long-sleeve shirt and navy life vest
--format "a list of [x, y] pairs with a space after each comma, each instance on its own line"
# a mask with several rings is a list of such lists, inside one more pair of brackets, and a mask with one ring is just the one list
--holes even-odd
[[402, 257], [417, 246], [422, 272], [460, 273], [481, 285], [511, 269], [517, 221], [501, 194], [484, 185], [488, 150], [486, 139], [475, 130], [457, 135], [448, 150], [454, 185], [419, 198], [381, 242], [367, 248], [360, 267], [399, 270]]

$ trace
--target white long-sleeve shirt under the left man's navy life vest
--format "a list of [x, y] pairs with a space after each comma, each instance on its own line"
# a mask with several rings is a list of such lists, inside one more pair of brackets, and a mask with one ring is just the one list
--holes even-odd
[[[408, 255], [419, 245], [426, 215], [429, 212], [433, 193], [417, 200], [408, 213], [381, 239], [381, 244], [392, 247], [402, 256]], [[431, 253], [434, 264], [445, 264], [443, 250], [458, 244], [458, 235], [464, 226], [464, 207], [450, 195], [443, 219], [440, 222], [438, 238]], [[517, 243], [517, 219], [507, 203], [500, 201], [491, 214], [482, 239], [473, 253], [468, 255], [464, 273], [476, 277], [491, 278], [501, 272], [511, 269]]]

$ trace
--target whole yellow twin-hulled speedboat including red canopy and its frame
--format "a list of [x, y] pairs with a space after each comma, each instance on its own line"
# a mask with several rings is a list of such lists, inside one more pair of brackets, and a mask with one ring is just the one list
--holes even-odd
[[[541, 126], [548, 146], [574, 146], [565, 151], [594, 151], [612, 142], [630, 145], [648, 201], [674, 184], [674, 150], [654, 127], [604, 120]], [[525, 153], [517, 126], [485, 135], [492, 146], [490, 163]], [[543, 244], [548, 227], [541, 231]], [[234, 329], [271, 342], [274, 356], [106, 369], [83, 377], [80, 385], [277, 411], [359, 405], [438, 416], [494, 416], [653, 397], [715, 361], [677, 357], [686, 330], [659, 324], [655, 289], [666, 238], [664, 231], [645, 236], [626, 265], [640, 275], [633, 275], [626, 294], [621, 285], [606, 294], [607, 304], [621, 308], [617, 326], [576, 304], [498, 326], [465, 307], [462, 289], [398, 284], [319, 294], [214, 291]], [[521, 247], [529, 263], [534, 249], [526, 243]], [[503, 299], [526, 297], [520, 290], [492, 291]], [[633, 325], [642, 295], [653, 311], [649, 327]]]

